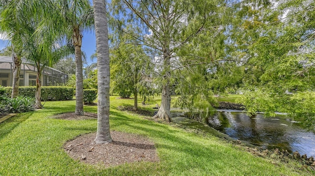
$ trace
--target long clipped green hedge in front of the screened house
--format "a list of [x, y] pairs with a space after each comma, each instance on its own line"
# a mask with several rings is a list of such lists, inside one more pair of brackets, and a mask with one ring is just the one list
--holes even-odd
[[[5, 87], [5, 94], [11, 96], [12, 87]], [[63, 101], [72, 100], [73, 98], [72, 87], [61, 87], [61, 86], [42, 86], [41, 87], [41, 100], [43, 101]], [[35, 97], [36, 87], [35, 86], [21, 86], [19, 87], [19, 96], [23, 97]]]

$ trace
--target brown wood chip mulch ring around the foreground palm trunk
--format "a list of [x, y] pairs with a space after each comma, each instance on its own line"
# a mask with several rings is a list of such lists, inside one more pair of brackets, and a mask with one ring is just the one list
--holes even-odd
[[106, 168], [137, 161], [158, 162], [154, 143], [148, 138], [111, 131], [113, 142], [97, 145], [96, 133], [85, 134], [64, 144], [64, 150], [74, 159], [88, 164], [102, 164]]

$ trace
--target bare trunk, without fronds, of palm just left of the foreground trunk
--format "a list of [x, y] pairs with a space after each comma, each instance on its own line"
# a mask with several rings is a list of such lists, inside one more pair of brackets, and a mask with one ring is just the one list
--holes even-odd
[[83, 69], [82, 69], [82, 34], [79, 29], [73, 32], [72, 41], [75, 52], [75, 115], [83, 115]]

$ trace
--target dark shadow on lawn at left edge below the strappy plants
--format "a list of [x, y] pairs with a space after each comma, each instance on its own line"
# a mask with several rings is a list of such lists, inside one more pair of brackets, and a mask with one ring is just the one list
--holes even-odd
[[12, 130], [14, 130], [21, 123], [31, 117], [33, 112], [17, 114], [0, 124], [0, 140], [7, 136]]

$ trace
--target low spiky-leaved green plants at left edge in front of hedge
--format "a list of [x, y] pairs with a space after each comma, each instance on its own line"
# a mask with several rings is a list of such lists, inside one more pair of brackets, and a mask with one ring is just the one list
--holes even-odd
[[4, 95], [0, 96], [0, 113], [20, 113], [34, 110], [35, 100], [30, 97], [8, 98]]

